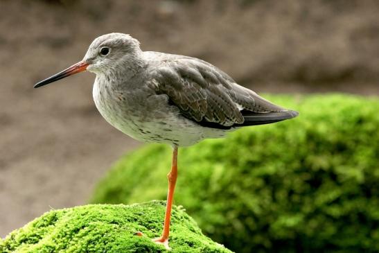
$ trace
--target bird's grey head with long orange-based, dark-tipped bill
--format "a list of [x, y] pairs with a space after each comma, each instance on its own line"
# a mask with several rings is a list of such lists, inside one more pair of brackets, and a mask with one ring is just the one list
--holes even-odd
[[37, 82], [34, 87], [41, 87], [86, 70], [100, 74], [123, 68], [125, 65], [132, 67], [139, 53], [141, 53], [139, 41], [130, 35], [123, 33], [101, 35], [91, 43], [83, 60], [45, 80]]

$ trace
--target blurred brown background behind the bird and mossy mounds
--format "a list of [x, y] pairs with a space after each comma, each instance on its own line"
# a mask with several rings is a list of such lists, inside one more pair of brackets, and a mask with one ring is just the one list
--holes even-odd
[[93, 74], [33, 89], [99, 35], [201, 58], [258, 93], [379, 95], [375, 0], [0, 0], [0, 10], [0, 237], [85, 204], [107, 168], [141, 145], [97, 112]]

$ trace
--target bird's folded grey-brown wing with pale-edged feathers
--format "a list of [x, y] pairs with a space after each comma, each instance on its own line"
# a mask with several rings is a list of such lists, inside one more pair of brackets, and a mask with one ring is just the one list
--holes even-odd
[[208, 62], [187, 57], [163, 62], [152, 71], [153, 89], [157, 94], [166, 94], [184, 116], [200, 125], [230, 128], [245, 125], [246, 121], [257, 125], [260, 123], [253, 121], [263, 122], [263, 115], [287, 112], [254, 91], [237, 85]]

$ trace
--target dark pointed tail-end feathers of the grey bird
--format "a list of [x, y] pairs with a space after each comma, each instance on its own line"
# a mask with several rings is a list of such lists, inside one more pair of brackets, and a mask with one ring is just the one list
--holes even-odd
[[265, 113], [249, 112], [247, 110], [242, 110], [241, 113], [243, 115], [243, 118], [245, 119], [244, 123], [233, 125], [233, 127], [270, 124], [278, 121], [284, 121], [285, 119], [292, 119], [299, 115], [299, 112], [292, 110]]

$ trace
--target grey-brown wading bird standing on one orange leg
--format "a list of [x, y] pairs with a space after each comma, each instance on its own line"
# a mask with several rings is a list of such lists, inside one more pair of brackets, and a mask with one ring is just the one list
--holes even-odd
[[108, 123], [139, 141], [173, 147], [163, 232], [152, 239], [168, 250], [178, 148], [203, 139], [221, 138], [245, 126], [275, 123], [299, 114], [238, 85], [209, 62], [142, 51], [139, 41], [124, 33], [97, 37], [80, 62], [34, 87], [82, 71], [96, 74], [92, 95]]

